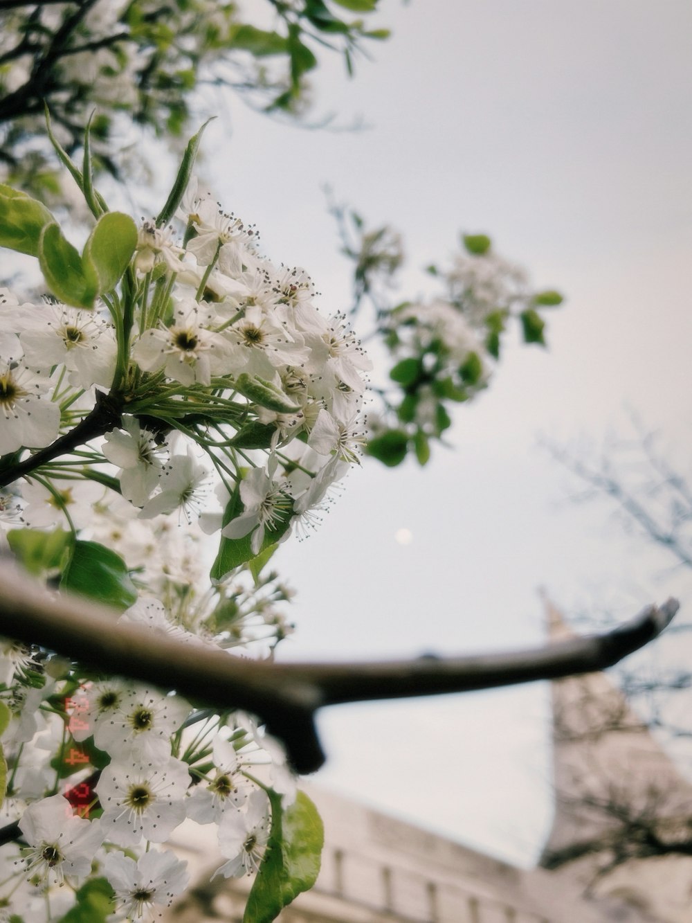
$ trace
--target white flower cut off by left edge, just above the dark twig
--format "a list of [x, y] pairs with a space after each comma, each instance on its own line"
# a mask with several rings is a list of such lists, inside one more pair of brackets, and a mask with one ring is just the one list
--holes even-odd
[[51, 385], [24, 365], [0, 360], [0, 455], [42, 449], [58, 436], [60, 408], [49, 397]]

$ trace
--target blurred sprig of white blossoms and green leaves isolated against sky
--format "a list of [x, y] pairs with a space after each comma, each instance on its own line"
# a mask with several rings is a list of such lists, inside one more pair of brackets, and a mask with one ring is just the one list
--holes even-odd
[[524, 343], [545, 345], [543, 310], [562, 303], [554, 290], [533, 291], [523, 270], [499, 257], [487, 234], [462, 234], [459, 252], [443, 268], [426, 268], [436, 291], [392, 305], [403, 264], [400, 235], [387, 225], [366, 227], [343, 205], [330, 203], [341, 252], [353, 265], [352, 312], [367, 304], [373, 336], [388, 353], [388, 381], [373, 387], [366, 451], [396, 467], [408, 455], [421, 464], [443, 442], [453, 405], [487, 386], [507, 330], [519, 325]]

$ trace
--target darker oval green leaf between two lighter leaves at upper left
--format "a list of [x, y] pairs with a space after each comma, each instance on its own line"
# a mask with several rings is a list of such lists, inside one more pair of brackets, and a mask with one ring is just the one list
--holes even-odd
[[39, 263], [48, 288], [60, 301], [76, 307], [94, 306], [99, 277], [89, 264], [83, 263], [55, 222], [42, 230]]

